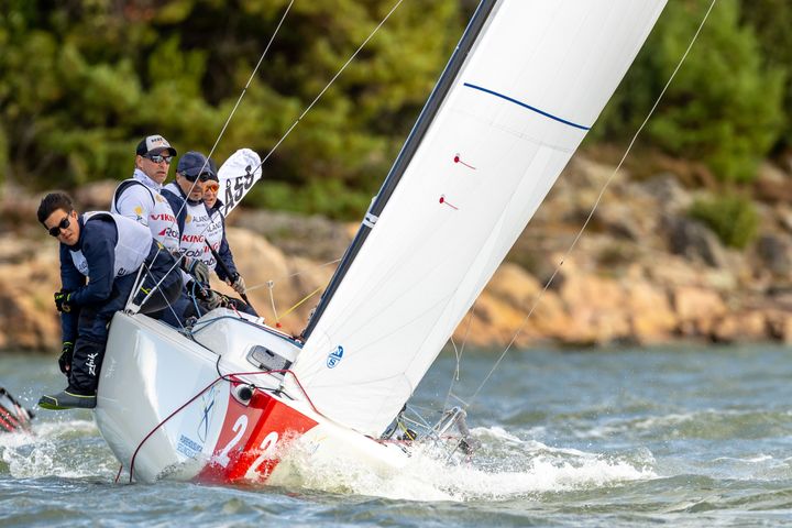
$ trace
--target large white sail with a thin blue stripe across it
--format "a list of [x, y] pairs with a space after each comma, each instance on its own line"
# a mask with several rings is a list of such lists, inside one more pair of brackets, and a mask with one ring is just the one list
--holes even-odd
[[664, 4], [495, 4], [294, 365], [322, 414], [371, 436], [387, 427], [596, 120]]

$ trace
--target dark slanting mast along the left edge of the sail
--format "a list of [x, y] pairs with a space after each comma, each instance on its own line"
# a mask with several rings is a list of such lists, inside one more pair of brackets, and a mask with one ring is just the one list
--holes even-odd
[[426, 134], [429, 125], [435, 119], [435, 116], [440, 109], [442, 101], [446, 99], [446, 95], [451, 88], [453, 80], [457, 78], [460, 69], [462, 68], [465, 58], [468, 58], [468, 54], [471, 52], [474, 44], [476, 43], [479, 35], [481, 34], [482, 29], [486, 24], [486, 21], [488, 20], [490, 14], [496, 3], [497, 0], [482, 0], [481, 3], [479, 3], [479, 7], [476, 8], [473, 16], [468, 23], [468, 28], [462, 34], [462, 38], [457, 45], [453, 55], [451, 55], [451, 59], [446, 65], [446, 69], [441, 74], [440, 79], [438, 80], [435, 89], [429, 96], [427, 103], [424, 106], [424, 109], [421, 110], [421, 113], [418, 117], [416, 124], [413, 127], [410, 134], [407, 136], [407, 141], [405, 141], [405, 144], [402, 146], [402, 151], [396, 157], [396, 162], [394, 163], [391, 172], [385, 178], [383, 186], [380, 188], [380, 193], [377, 193], [377, 195], [374, 197], [374, 200], [369, 208], [369, 211], [366, 212], [365, 218], [363, 219], [363, 222], [361, 223], [361, 227], [355, 234], [355, 238], [352, 240], [352, 243], [349, 245], [349, 248], [346, 248], [346, 251], [341, 258], [341, 263], [336, 270], [336, 273], [330, 279], [330, 284], [328, 284], [328, 287], [322, 294], [314, 315], [308, 321], [308, 326], [302, 331], [302, 339], [307, 340], [310, 337], [311, 332], [319, 322], [319, 319], [324, 312], [327, 306], [336, 294], [336, 290], [346, 275], [346, 272], [349, 272], [352, 262], [354, 262], [358, 253], [363, 246], [363, 243], [366, 241], [369, 234], [376, 224], [380, 215], [382, 213], [383, 209], [385, 209], [385, 205], [388, 202], [391, 196], [393, 195], [393, 191], [399, 184], [399, 180], [402, 179], [405, 169], [409, 165], [416, 150], [424, 140], [424, 135]]

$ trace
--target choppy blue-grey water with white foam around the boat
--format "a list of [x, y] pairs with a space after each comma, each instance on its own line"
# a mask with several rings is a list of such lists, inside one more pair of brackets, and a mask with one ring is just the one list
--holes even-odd
[[[465, 351], [469, 397], [496, 354]], [[471, 407], [470, 465], [417, 457], [383, 479], [306, 468], [289, 487], [113, 484], [88, 411], [0, 436], [1, 526], [792, 526], [792, 361], [783, 348], [512, 353]], [[0, 356], [32, 406], [54, 358]], [[418, 394], [442, 403], [443, 354]], [[311, 488], [307, 487], [310, 486]]]

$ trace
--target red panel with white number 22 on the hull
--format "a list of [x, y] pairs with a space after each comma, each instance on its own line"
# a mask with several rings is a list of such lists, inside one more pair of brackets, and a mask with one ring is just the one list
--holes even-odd
[[[233, 384], [231, 391], [235, 389]], [[198, 474], [202, 482], [231, 483], [242, 479], [265, 481], [279, 462], [284, 444], [317, 422], [267, 393], [254, 391], [248, 405], [229, 393], [228, 411], [209, 464]]]

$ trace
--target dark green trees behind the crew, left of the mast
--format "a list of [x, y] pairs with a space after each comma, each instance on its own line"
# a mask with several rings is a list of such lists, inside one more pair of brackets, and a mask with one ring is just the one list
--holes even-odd
[[[151, 132], [179, 152], [208, 152], [287, 3], [8, 0], [0, 138], [9, 174], [38, 188], [121, 179]], [[393, 4], [295, 2], [213, 157], [270, 152]], [[402, 4], [267, 161], [254, 198], [360, 216], [461, 34], [459, 9], [457, 0]]]

